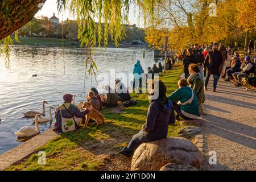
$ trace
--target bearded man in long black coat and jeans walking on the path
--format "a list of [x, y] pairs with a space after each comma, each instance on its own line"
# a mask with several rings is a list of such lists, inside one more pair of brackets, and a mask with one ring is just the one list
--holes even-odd
[[205, 90], [207, 89], [210, 75], [213, 75], [213, 90], [212, 92], [216, 92], [218, 75], [220, 75], [220, 66], [223, 62], [223, 57], [221, 52], [218, 51], [218, 43], [213, 44], [213, 49], [210, 51], [204, 61], [204, 70], [207, 70], [207, 75], [205, 78]]

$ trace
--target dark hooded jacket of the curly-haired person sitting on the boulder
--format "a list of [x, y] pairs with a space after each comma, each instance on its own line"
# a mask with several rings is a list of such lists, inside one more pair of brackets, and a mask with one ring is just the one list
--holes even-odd
[[168, 124], [175, 123], [174, 106], [167, 97], [150, 101], [147, 121], [142, 126], [143, 133], [150, 139], [167, 137]]

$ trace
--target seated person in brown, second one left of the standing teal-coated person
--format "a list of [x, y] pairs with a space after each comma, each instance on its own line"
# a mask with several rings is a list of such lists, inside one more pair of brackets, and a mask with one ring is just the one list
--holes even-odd
[[104, 85], [104, 90], [106, 91], [106, 94], [105, 96], [101, 97], [103, 106], [106, 106], [106, 107], [117, 106], [118, 101], [120, 101], [121, 98], [118, 96], [117, 93], [115, 93], [115, 90], [110, 89], [109, 85]]

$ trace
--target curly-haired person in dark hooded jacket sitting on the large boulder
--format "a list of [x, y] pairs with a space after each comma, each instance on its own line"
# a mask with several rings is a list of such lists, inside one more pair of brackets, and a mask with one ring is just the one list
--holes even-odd
[[168, 124], [175, 123], [174, 107], [166, 97], [166, 86], [160, 80], [158, 83], [152, 82], [151, 96], [159, 92], [159, 97], [156, 100], [149, 100], [147, 121], [142, 125], [142, 130], [131, 138], [128, 147], [120, 148], [120, 153], [127, 157], [133, 155], [141, 143], [166, 138]]

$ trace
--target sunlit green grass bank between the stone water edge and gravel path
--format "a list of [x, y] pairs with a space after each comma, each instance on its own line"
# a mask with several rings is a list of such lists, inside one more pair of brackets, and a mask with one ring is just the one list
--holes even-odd
[[[168, 94], [177, 89], [181, 72], [181, 67], [177, 66], [161, 75]], [[141, 130], [148, 109], [147, 94], [132, 96], [138, 101], [137, 105], [123, 111], [109, 108], [102, 111], [106, 121], [113, 119], [113, 123], [62, 134], [38, 148], [38, 151], [46, 152], [46, 165], [38, 164], [37, 151], [7, 170], [129, 170], [131, 158], [118, 154], [119, 147], [127, 145], [131, 137]], [[170, 125], [168, 136], [177, 136], [179, 129], [179, 122]]]

